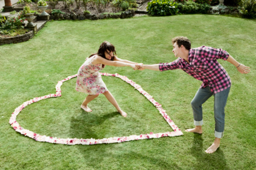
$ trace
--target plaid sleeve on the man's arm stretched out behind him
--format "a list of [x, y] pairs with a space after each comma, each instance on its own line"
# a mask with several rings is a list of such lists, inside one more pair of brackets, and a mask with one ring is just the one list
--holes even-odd
[[202, 46], [201, 54], [204, 55], [208, 60], [227, 60], [229, 57], [229, 53], [226, 50], [208, 46]]

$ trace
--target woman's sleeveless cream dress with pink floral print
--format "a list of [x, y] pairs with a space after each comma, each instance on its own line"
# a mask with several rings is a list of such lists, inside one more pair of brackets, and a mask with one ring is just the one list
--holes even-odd
[[102, 64], [92, 64], [92, 59], [87, 58], [86, 62], [82, 64], [77, 73], [76, 91], [97, 95], [108, 91], [105, 83], [103, 82], [100, 70], [103, 69]]

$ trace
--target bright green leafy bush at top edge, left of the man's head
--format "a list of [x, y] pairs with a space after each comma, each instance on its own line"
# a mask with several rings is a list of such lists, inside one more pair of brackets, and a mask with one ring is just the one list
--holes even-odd
[[148, 3], [147, 12], [149, 15], [166, 16], [177, 15], [177, 4], [168, 0], [152, 0]]

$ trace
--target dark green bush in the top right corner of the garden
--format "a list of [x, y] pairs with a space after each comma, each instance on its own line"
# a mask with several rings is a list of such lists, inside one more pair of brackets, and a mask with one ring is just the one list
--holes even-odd
[[242, 0], [240, 14], [244, 18], [256, 18], [256, 0]]

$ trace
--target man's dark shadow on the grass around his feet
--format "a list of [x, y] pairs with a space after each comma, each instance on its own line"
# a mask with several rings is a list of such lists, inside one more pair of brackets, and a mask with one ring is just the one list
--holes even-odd
[[[212, 142], [214, 142], [214, 140], [212, 140]], [[209, 146], [210, 145], [211, 143]], [[227, 166], [226, 158], [221, 146], [215, 153], [208, 154], [205, 152], [201, 134], [194, 134], [191, 154], [197, 160], [197, 163], [194, 163], [195, 169], [230, 169]]]

